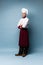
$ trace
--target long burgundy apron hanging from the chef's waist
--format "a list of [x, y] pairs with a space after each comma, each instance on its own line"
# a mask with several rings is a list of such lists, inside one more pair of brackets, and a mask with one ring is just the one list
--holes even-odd
[[28, 29], [27, 28], [22, 28], [20, 30], [19, 46], [21, 46], [21, 47], [29, 46]]

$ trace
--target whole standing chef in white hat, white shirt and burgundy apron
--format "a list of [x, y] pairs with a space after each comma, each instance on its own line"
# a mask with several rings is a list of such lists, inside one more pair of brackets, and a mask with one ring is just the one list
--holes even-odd
[[18, 54], [15, 54], [16, 56], [22, 56], [25, 57], [28, 53], [28, 47], [29, 47], [29, 39], [28, 39], [28, 24], [29, 24], [29, 18], [28, 10], [26, 8], [21, 9], [22, 18], [18, 22], [18, 29], [20, 30], [19, 35], [19, 52]]

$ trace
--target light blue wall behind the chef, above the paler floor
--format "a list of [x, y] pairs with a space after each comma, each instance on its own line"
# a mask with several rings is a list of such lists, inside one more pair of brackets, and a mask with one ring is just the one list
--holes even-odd
[[32, 49], [43, 48], [43, 0], [0, 1], [0, 48], [17, 48], [21, 8], [29, 9], [29, 39]]

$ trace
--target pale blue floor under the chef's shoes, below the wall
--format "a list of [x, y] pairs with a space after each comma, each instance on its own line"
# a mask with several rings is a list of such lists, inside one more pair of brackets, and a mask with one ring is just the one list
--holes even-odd
[[17, 49], [0, 49], [0, 65], [43, 65], [43, 52], [16, 57]]

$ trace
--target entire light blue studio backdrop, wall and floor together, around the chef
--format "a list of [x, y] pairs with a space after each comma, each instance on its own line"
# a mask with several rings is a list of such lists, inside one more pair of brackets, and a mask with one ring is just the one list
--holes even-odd
[[[18, 53], [21, 8], [29, 9], [30, 54]], [[43, 65], [43, 0], [0, 0], [0, 65]]]

